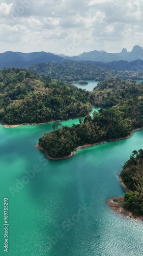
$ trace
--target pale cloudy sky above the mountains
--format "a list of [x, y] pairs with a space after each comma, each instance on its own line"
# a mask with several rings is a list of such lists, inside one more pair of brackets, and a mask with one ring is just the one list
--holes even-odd
[[2, 0], [0, 52], [131, 51], [142, 25], [142, 0]]

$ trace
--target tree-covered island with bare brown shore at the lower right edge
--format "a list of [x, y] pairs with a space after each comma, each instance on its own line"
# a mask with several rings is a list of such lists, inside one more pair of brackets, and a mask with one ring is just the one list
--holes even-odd
[[109, 200], [111, 209], [130, 218], [143, 221], [143, 150], [133, 151], [124, 164], [120, 181], [126, 191], [124, 197]]

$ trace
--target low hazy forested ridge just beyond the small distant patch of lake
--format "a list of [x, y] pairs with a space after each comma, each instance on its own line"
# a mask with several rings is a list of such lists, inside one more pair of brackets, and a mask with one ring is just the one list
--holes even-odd
[[[117, 71], [103, 67], [104, 64], [89, 61], [64, 61], [61, 63], [39, 63], [28, 69], [43, 76], [66, 81], [95, 80], [103, 81], [113, 77], [121, 79], [143, 79], [143, 72]], [[101, 66], [101, 67], [100, 67]]]

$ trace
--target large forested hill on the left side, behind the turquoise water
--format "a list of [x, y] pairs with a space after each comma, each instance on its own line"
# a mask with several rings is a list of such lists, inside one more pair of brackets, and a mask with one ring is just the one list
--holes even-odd
[[92, 111], [85, 92], [60, 80], [18, 68], [0, 73], [0, 119], [6, 124], [82, 117]]

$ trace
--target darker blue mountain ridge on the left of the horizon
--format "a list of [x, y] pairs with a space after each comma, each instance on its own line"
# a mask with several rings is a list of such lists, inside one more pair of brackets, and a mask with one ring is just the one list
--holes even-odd
[[0, 53], [0, 68], [23, 68], [36, 65], [38, 63], [61, 62], [63, 57], [46, 52], [5, 52]]

